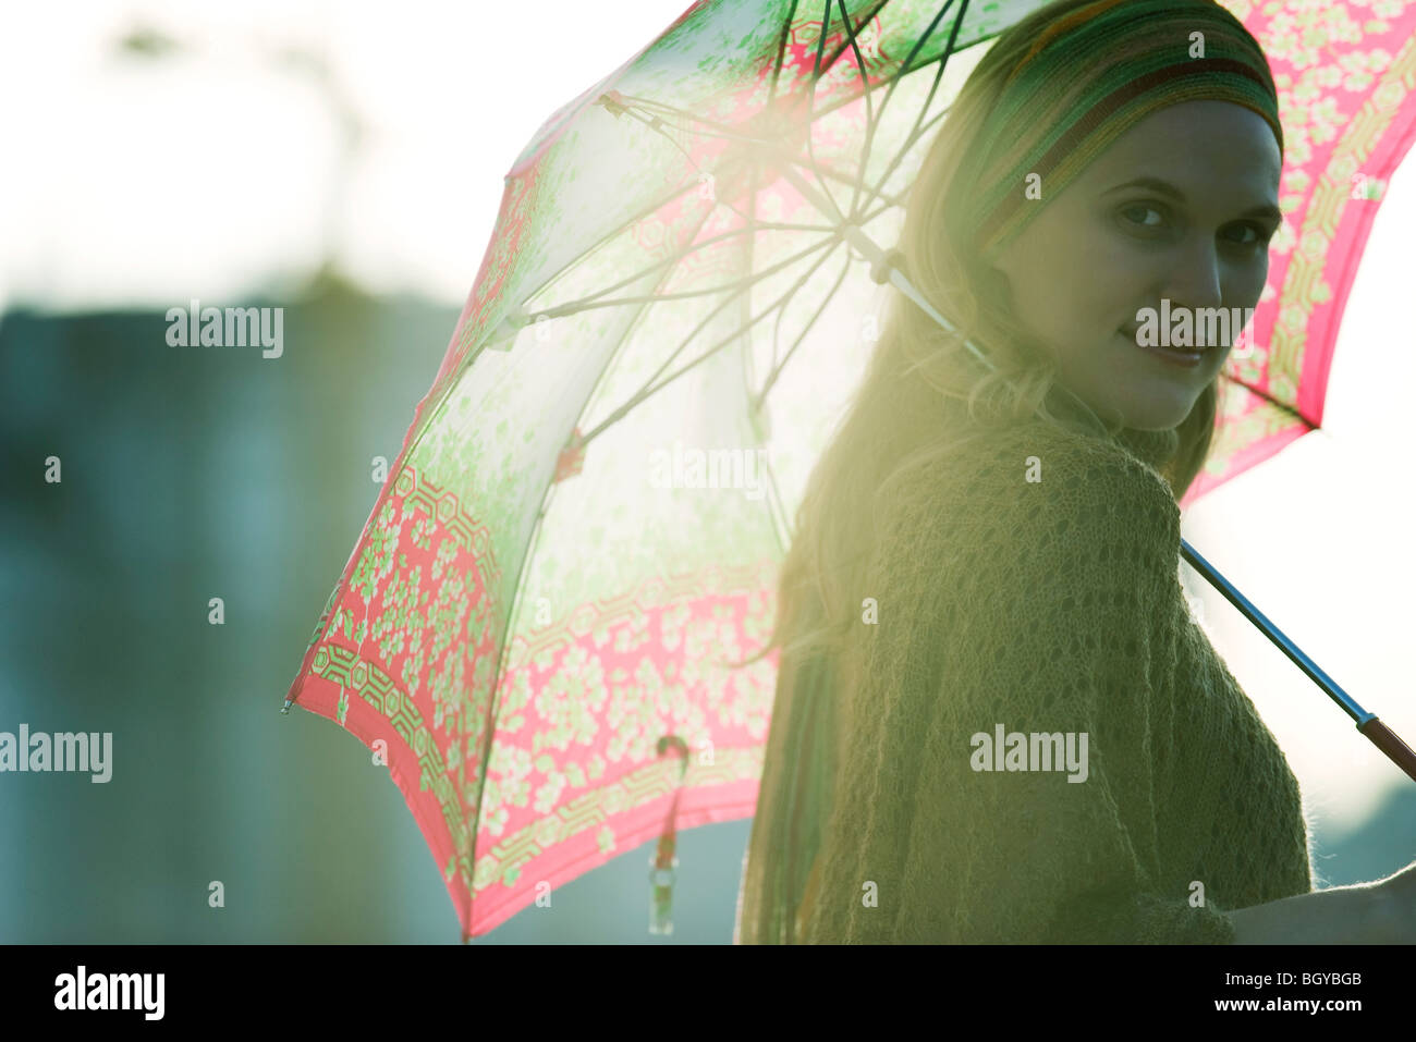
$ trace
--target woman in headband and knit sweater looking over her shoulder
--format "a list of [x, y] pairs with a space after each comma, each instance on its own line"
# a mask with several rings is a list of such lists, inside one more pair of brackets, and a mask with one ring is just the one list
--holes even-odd
[[783, 569], [736, 941], [1396, 939], [1412, 872], [1313, 892], [1297, 782], [1178, 582], [1238, 330], [1137, 337], [1257, 303], [1281, 163], [1209, 0], [1063, 0], [980, 61], [901, 242], [959, 330], [892, 297]]

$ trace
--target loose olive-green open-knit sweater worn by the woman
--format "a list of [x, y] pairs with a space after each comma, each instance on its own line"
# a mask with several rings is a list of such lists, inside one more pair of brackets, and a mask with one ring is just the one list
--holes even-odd
[[1226, 909], [1311, 889], [1184, 599], [1177, 445], [1032, 419], [882, 521], [860, 678], [783, 658], [735, 943], [1232, 943]]

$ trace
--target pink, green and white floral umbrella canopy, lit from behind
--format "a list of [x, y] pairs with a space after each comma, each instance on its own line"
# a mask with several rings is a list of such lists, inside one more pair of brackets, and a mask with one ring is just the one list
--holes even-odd
[[[775, 660], [728, 663], [869, 357], [944, 59], [1038, 6], [704, 0], [507, 174], [287, 694], [385, 750], [464, 939], [654, 837], [667, 932], [674, 830], [753, 814]], [[1351, 270], [1320, 262], [1355, 266], [1416, 113], [1416, 7], [1231, 7], [1274, 58], [1289, 224], [1192, 496], [1321, 420]]]

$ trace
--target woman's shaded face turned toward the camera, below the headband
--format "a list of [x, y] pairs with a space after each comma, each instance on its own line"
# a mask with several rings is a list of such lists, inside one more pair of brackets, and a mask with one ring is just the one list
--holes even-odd
[[[1219, 375], [1233, 345], [1175, 365], [1137, 345], [1137, 311], [1255, 307], [1269, 275], [1281, 159], [1257, 113], [1218, 101], [1154, 112], [1003, 251], [1015, 317], [1093, 409], [1140, 430], [1174, 428]], [[1148, 184], [1129, 184], [1148, 178]], [[1240, 314], [1245, 314], [1240, 311]], [[1126, 331], [1123, 331], [1126, 327]], [[1160, 330], [1157, 320], [1157, 330]]]

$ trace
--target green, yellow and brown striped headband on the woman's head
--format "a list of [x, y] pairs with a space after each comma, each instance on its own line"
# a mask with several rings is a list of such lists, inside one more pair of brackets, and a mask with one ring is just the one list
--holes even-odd
[[[1197, 35], [1198, 34], [1198, 35]], [[986, 259], [1126, 130], [1165, 106], [1223, 101], [1263, 116], [1283, 153], [1269, 62], [1215, 0], [1099, 0], [1052, 23], [1003, 86], [963, 163], [963, 232]]]

